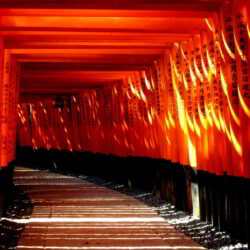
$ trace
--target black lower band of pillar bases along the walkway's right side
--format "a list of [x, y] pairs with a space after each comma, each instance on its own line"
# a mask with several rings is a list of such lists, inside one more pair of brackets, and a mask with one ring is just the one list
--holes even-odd
[[216, 176], [163, 159], [118, 157], [90, 152], [17, 149], [17, 165], [50, 169], [76, 176], [110, 179], [141, 188], [177, 209], [199, 215], [232, 238], [250, 246], [250, 181]]

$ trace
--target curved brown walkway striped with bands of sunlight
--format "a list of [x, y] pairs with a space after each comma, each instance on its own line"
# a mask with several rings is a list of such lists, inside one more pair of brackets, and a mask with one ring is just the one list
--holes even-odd
[[140, 201], [78, 178], [18, 167], [34, 203], [17, 249], [205, 249]]

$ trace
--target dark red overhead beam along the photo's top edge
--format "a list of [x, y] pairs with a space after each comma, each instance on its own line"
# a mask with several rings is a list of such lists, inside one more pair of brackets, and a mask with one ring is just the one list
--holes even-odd
[[94, 9], [94, 10], [206, 10], [217, 11], [223, 0], [1, 0], [1, 8]]

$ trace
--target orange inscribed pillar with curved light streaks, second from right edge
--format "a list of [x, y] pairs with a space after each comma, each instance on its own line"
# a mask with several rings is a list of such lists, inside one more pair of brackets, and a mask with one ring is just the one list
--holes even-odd
[[221, 22], [223, 27], [222, 39], [225, 57], [224, 67], [221, 72], [221, 81], [227, 97], [228, 108], [225, 111], [229, 113], [229, 117], [227, 117], [228, 113], [225, 115], [225, 129], [226, 133], [230, 135], [228, 135], [228, 137], [231, 142], [232, 150], [232, 163], [231, 167], [229, 167], [229, 174], [244, 176], [238, 95], [239, 80], [237, 75], [233, 13], [231, 6], [225, 5], [221, 9]]

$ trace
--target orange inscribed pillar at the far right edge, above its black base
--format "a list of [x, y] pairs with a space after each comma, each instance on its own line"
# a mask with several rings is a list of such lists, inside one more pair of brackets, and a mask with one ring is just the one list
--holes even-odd
[[240, 129], [244, 176], [250, 178], [250, 33], [247, 20], [248, 1], [234, 1], [235, 56], [240, 100]]

